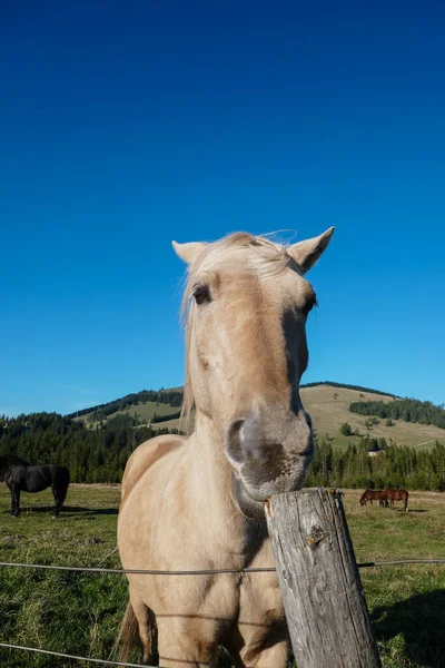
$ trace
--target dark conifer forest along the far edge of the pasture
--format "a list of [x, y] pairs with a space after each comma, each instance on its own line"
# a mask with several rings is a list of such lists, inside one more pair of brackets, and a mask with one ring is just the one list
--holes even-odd
[[[70, 469], [72, 482], [120, 482], [127, 460], [144, 441], [174, 429], [154, 430], [117, 415], [87, 428], [58, 413], [0, 419], [0, 455], [14, 453], [31, 464], [56, 463]], [[359, 444], [333, 449], [317, 439], [308, 487], [384, 488], [445, 491], [445, 445], [431, 451], [398, 446], [384, 438], [366, 436]], [[369, 456], [376, 452], [375, 456]]]

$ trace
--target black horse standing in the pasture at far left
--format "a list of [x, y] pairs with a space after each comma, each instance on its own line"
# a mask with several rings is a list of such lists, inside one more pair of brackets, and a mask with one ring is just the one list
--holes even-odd
[[69, 471], [58, 464], [31, 466], [14, 454], [0, 456], [0, 482], [6, 482], [11, 492], [11, 514], [20, 514], [20, 492], [41, 492], [51, 488], [55, 497], [52, 517], [57, 518], [67, 497]]

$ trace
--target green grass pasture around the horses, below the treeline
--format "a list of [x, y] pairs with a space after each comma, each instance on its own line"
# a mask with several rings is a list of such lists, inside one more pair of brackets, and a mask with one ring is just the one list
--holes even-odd
[[[71, 485], [58, 520], [50, 492], [22, 494], [22, 514], [8, 514], [0, 485], [0, 560], [119, 568], [118, 487]], [[445, 494], [413, 492], [409, 512], [362, 508], [345, 491], [357, 561], [445, 559]], [[445, 566], [360, 571], [384, 668], [445, 668]], [[123, 576], [0, 568], [0, 640], [55, 651], [110, 658], [126, 607]], [[80, 666], [63, 659], [1, 650], [7, 668]], [[220, 666], [230, 664], [221, 657]], [[83, 664], [87, 666], [87, 664]]]

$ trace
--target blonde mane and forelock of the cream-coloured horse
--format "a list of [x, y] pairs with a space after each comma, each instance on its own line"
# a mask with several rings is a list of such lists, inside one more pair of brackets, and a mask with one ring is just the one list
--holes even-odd
[[274, 243], [263, 236], [255, 236], [245, 232], [236, 232], [222, 237], [214, 244], [207, 244], [196, 262], [188, 267], [187, 282], [181, 304], [181, 321], [186, 331], [186, 381], [184, 385], [180, 426], [185, 426], [186, 433], [190, 433], [190, 418], [195, 405], [195, 397], [190, 383], [188, 353], [194, 313], [191, 308], [191, 297], [194, 288], [196, 287], [196, 277], [202, 266], [207, 264], [211, 266], [224, 253], [233, 253], [235, 255], [237, 250], [246, 248], [255, 249], [255, 255], [253, 255], [250, 262], [241, 268], [237, 265], [237, 271], [239, 271], [239, 273], [255, 272], [261, 277], [269, 277], [281, 274], [286, 268], [291, 266], [303, 275], [299, 265], [290, 257], [290, 255], [288, 255], [287, 246]]

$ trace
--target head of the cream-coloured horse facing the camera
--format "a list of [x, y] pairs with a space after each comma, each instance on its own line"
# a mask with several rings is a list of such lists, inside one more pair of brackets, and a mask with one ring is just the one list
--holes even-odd
[[194, 404], [197, 423], [220, 435], [238, 498], [263, 502], [304, 485], [315, 451], [299, 396], [316, 304], [306, 273], [333, 232], [291, 246], [244, 233], [174, 242], [188, 264], [186, 411]]

